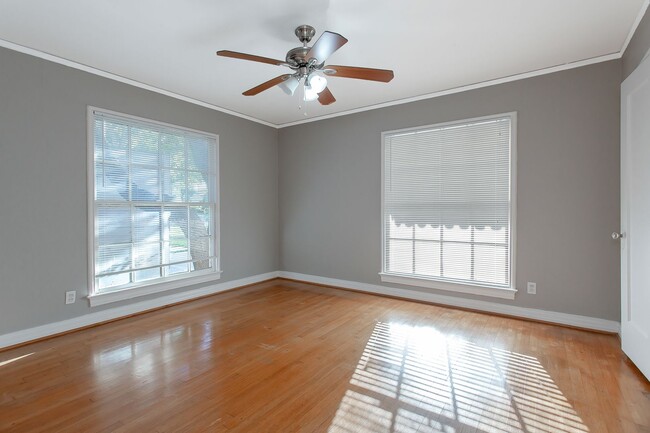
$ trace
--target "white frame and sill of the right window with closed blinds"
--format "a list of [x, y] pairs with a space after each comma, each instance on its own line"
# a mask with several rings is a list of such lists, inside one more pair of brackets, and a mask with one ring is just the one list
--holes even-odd
[[[386, 136], [421, 131], [426, 129], [445, 128], [454, 125], [480, 122], [484, 120], [510, 118], [510, 286], [496, 287], [486, 284], [472, 284], [470, 282], [456, 283], [443, 281], [435, 277], [426, 278], [408, 274], [386, 271], [386, 215], [385, 215], [385, 163], [386, 163]], [[490, 116], [474, 117], [470, 119], [455, 120], [451, 122], [436, 123], [414, 128], [384, 131], [381, 133], [381, 272], [379, 276], [384, 283], [404, 284], [409, 286], [424, 287], [429, 289], [446, 290], [457, 293], [482, 295], [501, 299], [514, 299], [517, 293], [515, 279], [516, 246], [517, 246], [517, 113], [501, 113]]]

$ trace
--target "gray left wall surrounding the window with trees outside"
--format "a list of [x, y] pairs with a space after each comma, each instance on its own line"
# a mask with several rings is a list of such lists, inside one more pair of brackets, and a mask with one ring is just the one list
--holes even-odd
[[87, 105], [218, 134], [220, 281], [278, 269], [277, 130], [0, 48], [0, 334], [125, 303], [64, 305], [87, 294]]

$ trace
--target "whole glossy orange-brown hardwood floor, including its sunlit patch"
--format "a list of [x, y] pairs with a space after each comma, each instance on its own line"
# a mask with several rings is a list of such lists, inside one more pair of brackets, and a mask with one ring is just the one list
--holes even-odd
[[618, 339], [273, 281], [0, 352], [2, 432], [649, 432]]

